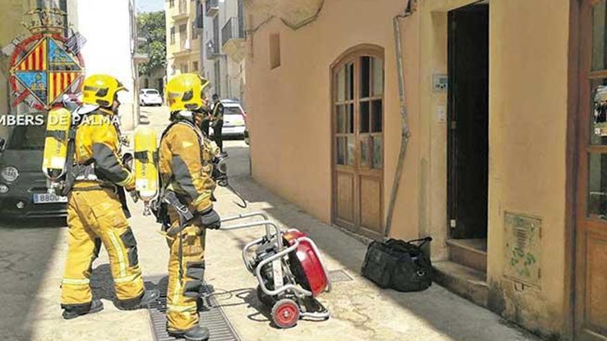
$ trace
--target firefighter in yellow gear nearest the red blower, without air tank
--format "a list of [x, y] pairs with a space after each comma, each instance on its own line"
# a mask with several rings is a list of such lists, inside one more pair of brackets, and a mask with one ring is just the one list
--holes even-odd
[[200, 125], [208, 114], [203, 90], [206, 79], [180, 74], [167, 86], [170, 125], [161, 137], [159, 170], [164, 193], [175, 194], [192, 215], [184, 221], [175, 206], [166, 207], [164, 227], [170, 248], [167, 290], [167, 330], [186, 340], [208, 340], [209, 331], [199, 326], [197, 302], [205, 270], [206, 229], [221, 225], [213, 209], [212, 160], [219, 153]]

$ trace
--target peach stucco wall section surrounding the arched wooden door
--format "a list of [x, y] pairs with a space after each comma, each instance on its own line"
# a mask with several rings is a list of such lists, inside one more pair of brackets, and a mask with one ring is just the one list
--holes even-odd
[[[325, 1], [318, 19], [305, 28], [291, 30], [272, 19], [248, 39], [246, 96], [253, 176], [326, 223], [331, 209], [330, 65], [361, 43], [384, 48], [384, 202], [388, 205], [401, 133], [392, 17], [402, 10], [404, 3], [399, 0], [385, 1], [382, 6], [369, 6], [368, 1]], [[364, 22], [376, 25], [361, 25], [363, 12]], [[276, 32], [280, 33], [281, 66], [270, 70], [268, 37]], [[412, 41], [416, 43], [417, 39]], [[412, 67], [417, 63], [415, 49], [408, 49], [407, 56], [412, 81], [418, 77], [417, 68]], [[412, 88], [411, 96], [416, 97], [416, 92]], [[412, 116], [413, 130], [417, 124], [417, 117]], [[417, 141], [412, 136], [397, 201], [392, 231], [398, 238], [417, 236], [417, 196], [407, 194], [417, 192]]]

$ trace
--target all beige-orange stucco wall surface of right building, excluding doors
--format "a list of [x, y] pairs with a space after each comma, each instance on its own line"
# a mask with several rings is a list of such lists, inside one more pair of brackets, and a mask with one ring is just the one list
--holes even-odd
[[[253, 1], [254, 2], [254, 1]], [[447, 12], [470, 0], [426, 0], [401, 23], [412, 136], [392, 236], [431, 235], [432, 258], [448, 258], [446, 93], [432, 74], [447, 72]], [[247, 98], [256, 180], [329, 223], [330, 64], [360, 43], [384, 48], [384, 203], [388, 207], [400, 141], [392, 17], [404, 1], [324, 2], [317, 20], [292, 30], [248, 8]], [[562, 333], [566, 262], [567, 0], [490, 0], [490, 308], [543, 333]], [[546, 9], [550, 9], [549, 11]], [[364, 13], [365, 20], [360, 15]], [[281, 66], [270, 70], [269, 36], [280, 34]], [[540, 288], [503, 276], [504, 211], [542, 219]]]

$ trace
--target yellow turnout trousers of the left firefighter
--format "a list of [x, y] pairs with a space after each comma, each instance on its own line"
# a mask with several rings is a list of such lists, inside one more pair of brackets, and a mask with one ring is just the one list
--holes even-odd
[[110, 256], [117, 305], [136, 307], [143, 296], [137, 241], [117, 194], [99, 183], [80, 182], [68, 195], [68, 256], [61, 281], [61, 307], [87, 309], [92, 301], [90, 274], [101, 243]]

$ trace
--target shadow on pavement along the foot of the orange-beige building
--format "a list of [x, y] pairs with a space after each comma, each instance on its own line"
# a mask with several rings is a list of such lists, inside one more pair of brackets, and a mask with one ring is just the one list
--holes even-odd
[[[249, 162], [248, 147], [228, 147], [226, 149], [230, 154], [228, 169], [235, 169], [233, 174], [230, 173], [232, 179], [230, 183], [249, 203], [267, 203], [269, 208], [264, 211], [281, 225], [305, 231], [310, 238], [315, 240], [321, 251], [341, 262], [349, 273], [359, 276], [366, 254], [366, 245], [363, 242], [322, 223], [256, 183], [248, 174], [248, 167], [243, 167], [243, 163]], [[239, 240], [239, 243], [243, 242], [243, 240]], [[376, 293], [381, 293], [381, 296]], [[435, 331], [444, 333], [453, 340], [494, 341], [496, 335], [504, 335], [505, 332], [504, 326], [497, 323], [499, 316], [486, 309], [481, 309], [436, 284], [426, 291], [417, 293], [401, 293], [391, 289], [372, 287], [372, 291], [351, 293], [351, 298], [348, 299], [354, 302], [356, 295], [371, 295], [379, 300], [386, 298], [392, 300], [412, 315], [423, 319]], [[454, 307], [457, 307], [457, 314], [453, 313]], [[356, 311], [355, 307], [351, 307], [350, 310], [359, 313], [360, 316], [368, 316], [364, 309]], [[367, 320], [367, 322], [371, 322], [369, 319]], [[508, 334], [515, 335], [513, 340], [535, 340], [533, 336], [522, 330], [508, 331]]]

